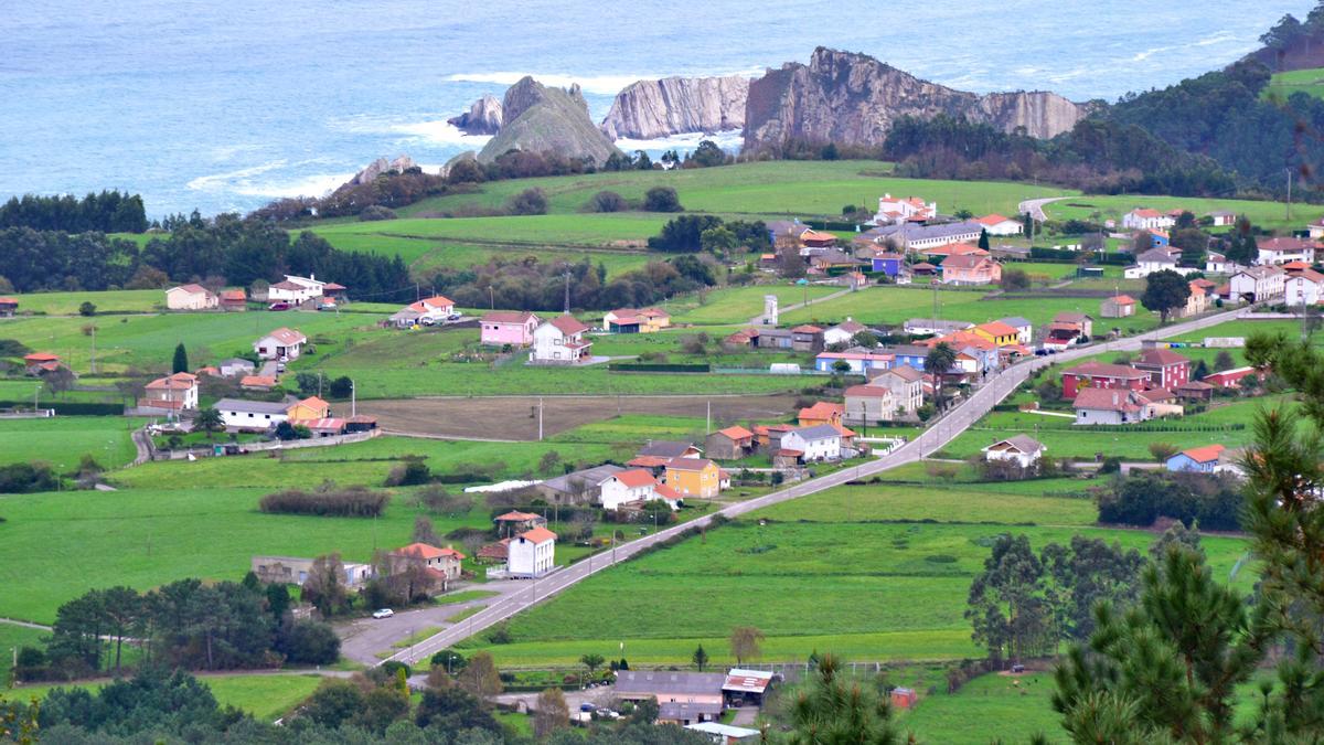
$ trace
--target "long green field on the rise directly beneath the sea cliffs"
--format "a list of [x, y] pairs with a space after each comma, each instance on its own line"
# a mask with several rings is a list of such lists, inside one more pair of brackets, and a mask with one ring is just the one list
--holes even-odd
[[839, 216], [846, 204], [871, 211], [884, 192], [937, 200], [943, 212], [969, 209], [976, 215], [1014, 215], [1022, 199], [1076, 194], [1070, 190], [1001, 182], [902, 179], [888, 175], [890, 163], [876, 160], [780, 160], [740, 163], [720, 168], [624, 171], [486, 183], [475, 194], [426, 199], [399, 209], [404, 216], [461, 208], [496, 209], [510, 196], [538, 187], [552, 212], [579, 212], [598, 191], [642, 200], [655, 186], [677, 190], [690, 212], [777, 216]]

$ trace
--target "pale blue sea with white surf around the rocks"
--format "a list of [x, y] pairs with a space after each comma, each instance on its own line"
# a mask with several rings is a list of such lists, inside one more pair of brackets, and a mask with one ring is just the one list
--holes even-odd
[[580, 84], [601, 121], [632, 81], [752, 77], [818, 45], [978, 93], [1111, 101], [1231, 62], [1309, 5], [20, 0], [0, 13], [0, 198], [114, 187], [152, 216], [248, 211], [381, 155], [437, 167], [478, 150], [446, 118], [524, 74]]

